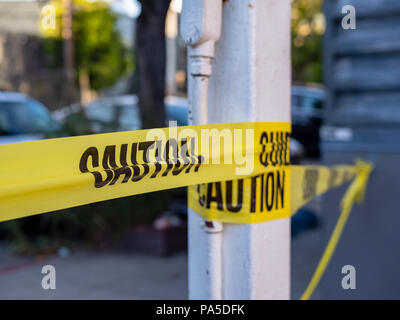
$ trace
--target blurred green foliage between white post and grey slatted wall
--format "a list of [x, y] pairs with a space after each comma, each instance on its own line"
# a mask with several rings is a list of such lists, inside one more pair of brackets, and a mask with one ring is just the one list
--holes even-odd
[[322, 0], [292, 0], [292, 71], [295, 82], [322, 82]]

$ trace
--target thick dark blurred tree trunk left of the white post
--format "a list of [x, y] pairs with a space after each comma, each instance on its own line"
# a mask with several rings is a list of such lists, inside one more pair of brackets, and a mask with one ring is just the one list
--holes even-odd
[[170, 0], [140, 0], [140, 3], [142, 12], [136, 24], [136, 57], [142, 127], [164, 127], [165, 17]]

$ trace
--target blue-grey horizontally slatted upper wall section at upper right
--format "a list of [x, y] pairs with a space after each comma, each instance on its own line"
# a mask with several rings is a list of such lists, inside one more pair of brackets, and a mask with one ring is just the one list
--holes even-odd
[[[344, 30], [344, 5], [356, 29]], [[400, 124], [400, 1], [325, 0], [324, 77], [327, 123]]]

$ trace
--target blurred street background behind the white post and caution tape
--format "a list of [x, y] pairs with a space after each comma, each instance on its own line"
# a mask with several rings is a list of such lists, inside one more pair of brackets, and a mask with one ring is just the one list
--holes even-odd
[[[356, 29], [341, 23], [347, 4]], [[313, 299], [399, 299], [400, 2], [291, 6], [291, 162], [361, 157], [376, 167]], [[187, 125], [181, 7], [0, 0], [0, 144]], [[345, 189], [292, 217], [293, 299], [313, 274]], [[173, 189], [0, 223], [0, 299], [186, 299], [186, 196]], [[45, 264], [56, 267], [56, 290], [41, 287]], [[340, 285], [346, 264], [359, 272], [357, 290]]]

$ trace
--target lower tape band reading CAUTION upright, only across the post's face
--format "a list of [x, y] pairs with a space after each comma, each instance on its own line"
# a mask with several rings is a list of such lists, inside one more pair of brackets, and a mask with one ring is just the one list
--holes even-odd
[[207, 220], [257, 223], [290, 216], [290, 171], [189, 186], [188, 205]]

